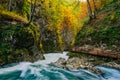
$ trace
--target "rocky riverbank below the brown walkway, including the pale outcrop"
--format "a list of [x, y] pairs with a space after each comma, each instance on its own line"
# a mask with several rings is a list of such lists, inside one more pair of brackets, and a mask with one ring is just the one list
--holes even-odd
[[87, 69], [97, 74], [100, 74], [101, 71], [96, 69], [95, 66], [107, 66], [120, 69], [120, 60], [118, 59], [103, 58], [84, 53], [68, 53], [68, 55], [68, 60], [60, 58], [55, 63], [51, 63], [50, 65], [68, 70]]

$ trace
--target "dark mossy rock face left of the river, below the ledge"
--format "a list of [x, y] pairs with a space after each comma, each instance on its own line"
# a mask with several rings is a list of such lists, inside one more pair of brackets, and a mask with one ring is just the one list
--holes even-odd
[[3, 27], [0, 30], [0, 65], [44, 59], [37, 43], [36, 37], [39, 36], [35, 26], [26, 26], [22, 23], [0, 26]]

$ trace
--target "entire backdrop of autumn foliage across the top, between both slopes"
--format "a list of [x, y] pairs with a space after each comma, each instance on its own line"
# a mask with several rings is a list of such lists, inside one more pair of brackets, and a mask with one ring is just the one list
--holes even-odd
[[[92, 14], [107, 3], [106, 0], [89, 2]], [[89, 19], [87, 2], [81, 0], [1, 0], [0, 3], [0, 9], [15, 12], [41, 28], [54, 32], [61, 49], [74, 45], [77, 33]]]

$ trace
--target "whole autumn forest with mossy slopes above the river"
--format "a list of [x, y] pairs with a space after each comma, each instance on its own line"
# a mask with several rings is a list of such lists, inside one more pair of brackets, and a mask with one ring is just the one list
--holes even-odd
[[120, 1], [0, 0], [0, 66], [64, 51], [120, 59]]

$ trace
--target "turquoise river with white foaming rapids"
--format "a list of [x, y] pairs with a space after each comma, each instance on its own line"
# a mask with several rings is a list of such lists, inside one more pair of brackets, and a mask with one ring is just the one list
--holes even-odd
[[120, 80], [118, 69], [96, 66], [102, 71], [98, 75], [83, 69], [68, 71], [48, 65], [60, 57], [68, 59], [66, 52], [50, 53], [45, 54], [46, 60], [6, 65], [0, 68], [0, 80]]

